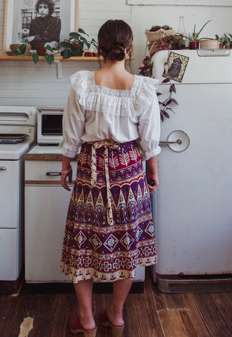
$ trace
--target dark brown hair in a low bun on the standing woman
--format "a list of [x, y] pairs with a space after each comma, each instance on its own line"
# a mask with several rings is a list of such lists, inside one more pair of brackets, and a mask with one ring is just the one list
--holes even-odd
[[[122, 61], [132, 48], [133, 32], [123, 20], [108, 20], [98, 32], [97, 56]], [[131, 54], [130, 54], [131, 59]], [[100, 63], [100, 62], [99, 62]]]

